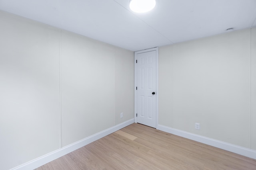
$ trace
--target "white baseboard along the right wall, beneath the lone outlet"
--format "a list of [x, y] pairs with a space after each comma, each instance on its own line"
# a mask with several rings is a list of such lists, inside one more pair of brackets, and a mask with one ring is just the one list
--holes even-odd
[[191, 139], [193, 141], [204, 143], [206, 145], [210, 145], [210, 146], [213, 146], [213, 147], [216, 147], [216, 148], [220, 148], [220, 149], [227, 150], [227, 151], [230, 151], [230, 152], [233, 152], [233, 153], [236, 153], [236, 154], [247, 156], [249, 158], [256, 159], [256, 150], [251, 150], [251, 149], [247, 149], [247, 148], [244, 148], [244, 147], [239, 147], [237, 145], [232, 145], [230, 143], [225, 143], [225, 142], [222, 142], [222, 141], [218, 141], [218, 140], [211, 139], [211, 138], [208, 138], [208, 137], [203, 137], [203, 136], [200, 136], [200, 135], [195, 135], [193, 133], [188, 133], [188, 132], [181, 131], [181, 130], [178, 130], [178, 129], [174, 129], [174, 128], [171, 128], [171, 127], [166, 127], [164, 125], [158, 125], [157, 129], [160, 130], [160, 131], [164, 131], [164, 132], [167, 132], [167, 133], [171, 133], [171, 134], [180, 136], [180, 137]]

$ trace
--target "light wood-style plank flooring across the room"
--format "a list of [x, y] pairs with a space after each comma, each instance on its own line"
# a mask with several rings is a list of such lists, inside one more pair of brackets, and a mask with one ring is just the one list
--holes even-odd
[[256, 160], [134, 123], [36, 170], [256, 170]]

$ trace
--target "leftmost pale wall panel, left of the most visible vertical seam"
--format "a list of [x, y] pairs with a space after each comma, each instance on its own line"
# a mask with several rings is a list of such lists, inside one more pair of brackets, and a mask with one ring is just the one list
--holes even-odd
[[59, 35], [0, 13], [0, 169], [59, 149]]

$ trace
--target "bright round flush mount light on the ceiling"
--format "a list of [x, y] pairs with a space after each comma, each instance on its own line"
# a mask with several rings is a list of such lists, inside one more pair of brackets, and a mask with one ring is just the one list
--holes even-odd
[[130, 0], [130, 9], [133, 12], [143, 13], [155, 8], [156, 0]]

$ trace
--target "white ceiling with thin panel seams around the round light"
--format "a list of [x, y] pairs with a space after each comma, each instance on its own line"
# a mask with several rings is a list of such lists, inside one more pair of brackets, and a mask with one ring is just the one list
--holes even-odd
[[0, 0], [0, 10], [138, 51], [256, 26], [256, 0], [156, 0], [144, 14], [129, 0]]

